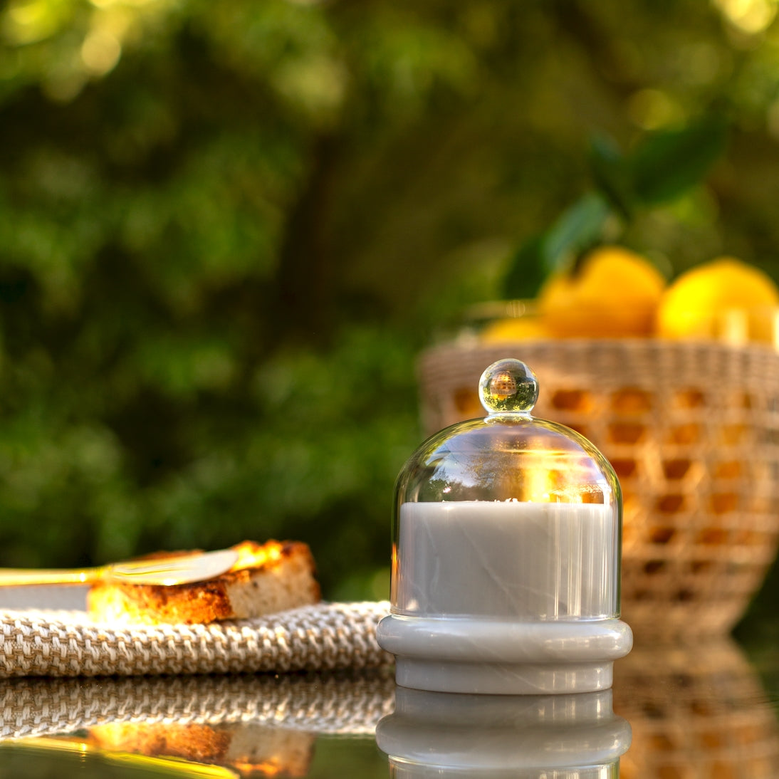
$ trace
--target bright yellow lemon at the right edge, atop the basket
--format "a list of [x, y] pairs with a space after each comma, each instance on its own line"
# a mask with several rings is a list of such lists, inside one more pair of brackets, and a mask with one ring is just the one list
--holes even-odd
[[774, 343], [779, 288], [762, 270], [719, 257], [682, 275], [657, 309], [662, 338]]

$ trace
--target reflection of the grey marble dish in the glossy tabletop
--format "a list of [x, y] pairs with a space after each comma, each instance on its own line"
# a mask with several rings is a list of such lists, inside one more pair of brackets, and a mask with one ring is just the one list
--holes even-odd
[[[596, 779], [630, 746], [611, 690], [554, 696], [428, 693], [398, 687], [376, 728], [397, 779], [462, 776]], [[514, 772], [521, 770], [522, 774]], [[565, 774], [552, 774], [565, 771]]]

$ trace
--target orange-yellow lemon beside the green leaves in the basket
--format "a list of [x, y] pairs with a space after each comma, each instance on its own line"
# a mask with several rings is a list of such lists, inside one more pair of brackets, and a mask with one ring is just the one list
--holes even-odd
[[648, 336], [665, 279], [649, 260], [622, 246], [600, 246], [576, 273], [554, 273], [538, 294], [553, 336]]

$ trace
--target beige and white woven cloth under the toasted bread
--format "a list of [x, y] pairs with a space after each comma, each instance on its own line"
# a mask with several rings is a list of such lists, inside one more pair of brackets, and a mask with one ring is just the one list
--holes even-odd
[[392, 657], [378, 603], [330, 603], [210, 625], [125, 626], [85, 612], [0, 612], [0, 678], [371, 668]]

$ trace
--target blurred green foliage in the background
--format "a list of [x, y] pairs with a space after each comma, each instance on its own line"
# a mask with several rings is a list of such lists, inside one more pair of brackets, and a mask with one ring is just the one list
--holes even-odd
[[516, 252], [589, 191], [594, 137], [724, 122], [620, 238], [777, 277], [776, 14], [0, 6], [0, 565], [299, 538], [328, 597], [385, 597], [415, 358], [512, 267], [533, 291]]

